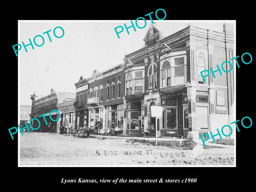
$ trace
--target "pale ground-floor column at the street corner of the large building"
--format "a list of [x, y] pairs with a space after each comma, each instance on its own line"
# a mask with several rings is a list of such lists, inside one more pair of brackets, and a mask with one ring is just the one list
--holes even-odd
[[188, 138], [198, 139], [196, 131], [196, 84], [187, 83], [188, 97]]

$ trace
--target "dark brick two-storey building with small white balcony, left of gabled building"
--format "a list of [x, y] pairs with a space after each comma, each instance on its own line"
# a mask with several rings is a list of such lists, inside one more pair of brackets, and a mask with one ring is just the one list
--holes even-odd
[[121, 65], [75, 83], [76, 128], [91, 127], [97, 133], [119, 127], [123, 129], [124, 70]]

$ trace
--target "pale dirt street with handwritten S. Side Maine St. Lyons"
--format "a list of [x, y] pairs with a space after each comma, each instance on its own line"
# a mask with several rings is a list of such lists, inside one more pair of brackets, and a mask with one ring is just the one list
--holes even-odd
[[193, 150], [126, 139], [74, 138], [55, 133], [20, 135], [20, 165], [234, 165], [234, 148]]

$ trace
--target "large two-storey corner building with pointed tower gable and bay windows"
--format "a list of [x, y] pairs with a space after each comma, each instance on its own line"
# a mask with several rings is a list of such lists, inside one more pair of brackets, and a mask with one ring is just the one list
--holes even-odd
[[[198, 139], [234, 121], [234, 70], [211, 74], [205, 83], [200, 74], [235, 57], [234, 26], [223, 24], [223, 33], [187, 26], [163, 38], [151, 25], [143, 41], [122, 65], [124, 134], [141, 127], [154, 135], [157, 125], [158, 137]], [[151, 106], [163, 107], [161, 118], [151, 117]]]

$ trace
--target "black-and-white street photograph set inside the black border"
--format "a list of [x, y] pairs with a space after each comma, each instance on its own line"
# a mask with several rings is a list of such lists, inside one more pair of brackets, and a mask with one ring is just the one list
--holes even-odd
[[235, 166], [235, 27], [20, 21], [19, 166]]

